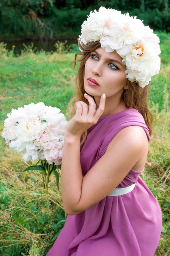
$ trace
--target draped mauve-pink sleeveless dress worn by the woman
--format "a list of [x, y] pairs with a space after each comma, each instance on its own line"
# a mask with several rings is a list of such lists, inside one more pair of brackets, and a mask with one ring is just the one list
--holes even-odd
[[[83, 176], [102, 157], [112, 138], [131, 125], [141, 126], [150, 141], [144, 118], [135, 108], [101, 116], [88, 129], [80, 148]], [[143, 171], [144, 168], [140, 172]], [[136, 183], [131, 192], [106, 196], [83, 212], [68, 215], [46, 256], [154, 256], [161, 236], [162, 213], [140, 172], [129, 170], [116, 187]]]

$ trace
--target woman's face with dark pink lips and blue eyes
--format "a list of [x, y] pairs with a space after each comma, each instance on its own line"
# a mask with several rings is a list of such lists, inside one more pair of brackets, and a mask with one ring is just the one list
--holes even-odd
[[[128, 80], [125, 70], [126, 66], [122, 64], [122, 58], [116, 50], [105, 52], [105, 49], [97, 48], [91, 52], [91, 56], [85, 63], [85, 91], [91, 96], [100, 97], [105, 93], [106, 98], [120, 99], [124, 89], [127, 89]], [[92, 83], [89, 80], [92, 79], [99, 84], [99, 87], [91, 86]]]

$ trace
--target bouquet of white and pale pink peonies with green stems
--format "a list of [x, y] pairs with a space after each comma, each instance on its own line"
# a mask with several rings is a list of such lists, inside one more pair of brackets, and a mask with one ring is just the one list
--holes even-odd
[[41, 170], [47, 193], [51, 173], [54, 172], [57, 187], [61, 177], [59, 169], [62, 163], [65, 126], [68, 122], [64, 114], [59, 112], [59, 108], [45, 106], [43, 102], [12, 109], [4, 121], [2, 133], [11, 150], [24, 153], [23, 160], [28, 162], [30, 159], [39, 159], [37, 163], [41, 161], [41, 165], [36, 163], [24, 171]]

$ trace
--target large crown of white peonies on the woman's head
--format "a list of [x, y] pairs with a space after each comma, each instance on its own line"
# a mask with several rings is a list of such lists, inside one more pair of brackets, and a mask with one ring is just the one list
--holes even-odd
[[149, 84], [151, 76], [159, 73], [161, 50], [159, 37], [142, 21], [129, 16], [128, 12], [122, 14], [101, 6], [98, 12], [90, 12], [82, 24], [79, 42], [86, 45], [99, 41], [106, 52], [116, 50], [126, 65], [126, 78], [143, 88]]

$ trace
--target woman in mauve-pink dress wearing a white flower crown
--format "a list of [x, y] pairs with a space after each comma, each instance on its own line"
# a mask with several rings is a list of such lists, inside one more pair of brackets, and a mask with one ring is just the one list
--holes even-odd
[[47, 256], [153, 256], [161, 208], [139, 174], [152, 133], [146, 85], [160, 70], [159, 38], [136, 17], [101, 7], [78, 43], [61, 169], [68, 217]]

